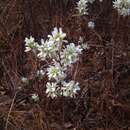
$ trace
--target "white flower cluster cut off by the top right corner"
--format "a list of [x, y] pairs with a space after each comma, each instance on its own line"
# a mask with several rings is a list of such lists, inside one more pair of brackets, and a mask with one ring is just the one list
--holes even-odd
[[116, 0], [113, 2], [113, 7], [117, 9], [122, 16], [130, 14], [130, 0]]

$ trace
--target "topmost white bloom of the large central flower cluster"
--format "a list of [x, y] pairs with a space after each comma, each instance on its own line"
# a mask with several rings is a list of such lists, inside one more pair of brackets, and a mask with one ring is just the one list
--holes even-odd
[[63, 33], [62, 28], [55, 27], [52, 31], [52, 35], [48, 35], [50, 41], [61, 43], [66, 37], [66, 33]]

